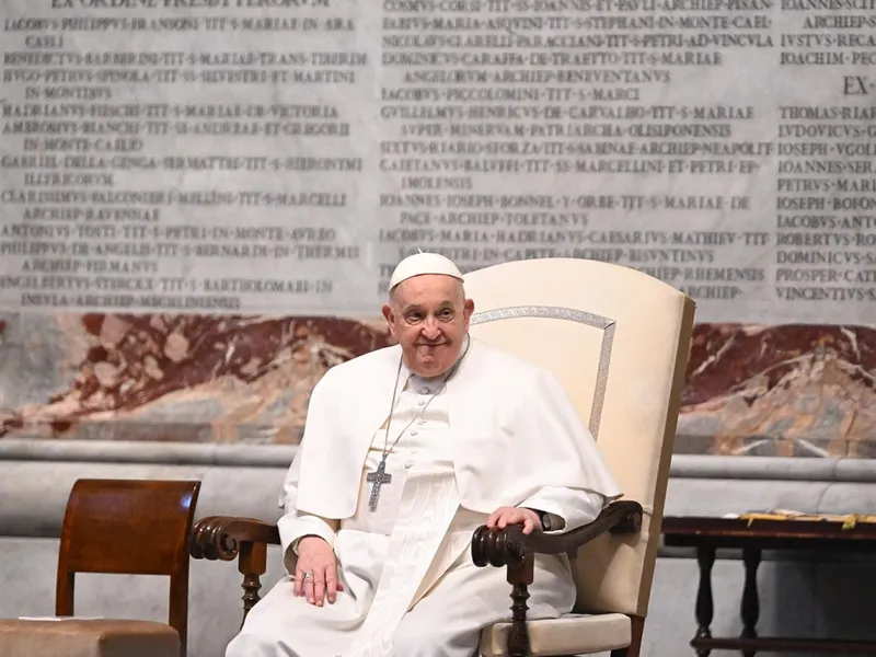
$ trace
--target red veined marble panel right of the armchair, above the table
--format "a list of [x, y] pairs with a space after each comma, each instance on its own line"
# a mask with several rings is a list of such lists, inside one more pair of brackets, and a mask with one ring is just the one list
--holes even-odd
[[701, 324], [677, 451], [874, 456], [876, 330]]

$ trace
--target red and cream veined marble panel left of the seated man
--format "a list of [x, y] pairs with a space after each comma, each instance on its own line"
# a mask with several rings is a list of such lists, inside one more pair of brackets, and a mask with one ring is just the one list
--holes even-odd
[[295, 443], [332, 366], [385, 346], [377, 322], [8, 314], [0, 435]]

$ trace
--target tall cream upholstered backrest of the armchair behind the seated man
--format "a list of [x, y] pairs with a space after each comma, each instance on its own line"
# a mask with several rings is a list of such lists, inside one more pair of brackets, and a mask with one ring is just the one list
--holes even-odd
[[644, 616], [684, 382], [693, 301], [632, 268], [545, 258], [465, 276], [471, 334], [552, 371], [597, 440], [642, 532], [606, 535], [573, 562], [576, 610]]

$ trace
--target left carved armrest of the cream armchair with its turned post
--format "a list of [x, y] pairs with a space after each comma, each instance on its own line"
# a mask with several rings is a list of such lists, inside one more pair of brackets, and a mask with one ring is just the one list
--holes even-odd
[[[280, 544], [276, 525], [252, 518], [207, 516], [192, 528], [188, 553], [194, 558], [232, 561], [243, 575], [243, 620], [261, 599], [260, 577], [267, 572], [267, 546]], [[241, 622], [241, 626], [243, 623]]]

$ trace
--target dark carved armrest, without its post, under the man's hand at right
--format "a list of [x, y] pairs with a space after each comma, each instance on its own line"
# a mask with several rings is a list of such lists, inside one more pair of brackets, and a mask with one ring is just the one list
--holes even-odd
[[472, 561], [479, 567], [500, 567], [521, 563], [528, 554], [575, 554], [579, 548], [604, 533], [638, 533], [642, 512], [642, 505], [637, 502], [620, 499], [602, 509], [589, 525], [557, 534], [525, 534], [519, 525], [505, 529], [488, 529], [482, 525], [474, 530]]

